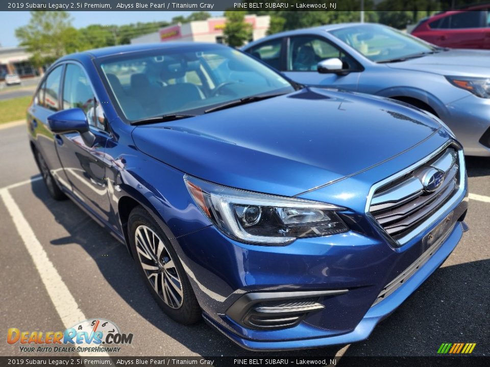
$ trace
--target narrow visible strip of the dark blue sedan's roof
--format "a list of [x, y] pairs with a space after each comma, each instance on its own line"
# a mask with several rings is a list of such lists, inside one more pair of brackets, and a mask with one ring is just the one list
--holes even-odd
[[91, 49], [87, 51], [82, 51], [77, 54], [70, 54], [62, 57], [59, 61], [67, 59], [77, 59], [82, 56], [89, 55], [91, 58], [103, 58], [106, 56], [128, 54], [139, 51], [150, 51], [150, 50], [165, 50], [182, 48], [183, 50], [197, 49], [199, 46], [215, 46], [215, 47], [227, 47], [217, 43], [206, 43], [206, 42], [162, 42], [162, 43], [144, 43], [144, 44], [129, 44], [120, 46], [110, 46]]

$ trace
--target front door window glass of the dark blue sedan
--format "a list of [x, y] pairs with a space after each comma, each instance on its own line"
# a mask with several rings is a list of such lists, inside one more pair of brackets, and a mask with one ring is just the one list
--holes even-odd
[[89, 125], [105, 129], [106, 121], [101, 104], [95, 99], [85, 72], [75, 64], [66, 65], [63, 84], [63, 110], [71, 108], [82, 109]]

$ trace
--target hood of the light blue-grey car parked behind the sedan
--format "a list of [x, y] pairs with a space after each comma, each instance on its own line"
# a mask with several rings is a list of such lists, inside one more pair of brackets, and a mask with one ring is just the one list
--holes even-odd
[[440, 75], [490, 77], [490, 51], [449, 49], [421, 58], [386, 64], [393, 69], [417, 70]]

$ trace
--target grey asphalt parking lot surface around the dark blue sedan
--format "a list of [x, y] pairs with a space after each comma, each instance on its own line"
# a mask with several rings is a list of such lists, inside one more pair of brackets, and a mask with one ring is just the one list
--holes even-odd
[[[490, 159], [468, 158], [467, 165], [472, 193], [467, 216], [470, 231], [443, 266], [364, 342], [281, 352], [281, 356], [433, 356], [441, 343], [476, 343], [472, 355], [490, 355]], [[0, 355], [22, 354], [18, 344], [5, 342], [7, 328], [65, 329], [63, 320], [69, 315], [60, 309], [59, 300], [53, 303], [56, 297], [53, 293], [50, 297], [36, 268], [39, 264], [59, 274], [63, 289], [78, 305], [75, 315], [108, 319], [134, 334], [132, 345], [117, 355], [267, 355], [241, 349], [204, 322], [185, 327], [168, 319], [146, 291], [124, 246], [74, 203], [57, 202], [48, 195], [24, 126], [0, 129], [0, 167], [0, 193], [8, 193], [0, 196], [4, 335]], [[14, 224], [12, 211], [24, 219], [21, 225]], [[26, 247], [33, 242], [42, 246], [46, 258], [34, 261]], [[58, 291], [63, 294], [50, 289]]]

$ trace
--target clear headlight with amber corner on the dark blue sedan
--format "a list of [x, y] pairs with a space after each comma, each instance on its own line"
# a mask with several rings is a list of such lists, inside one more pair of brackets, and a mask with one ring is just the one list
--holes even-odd
[[232, 189], [188, 175], [184, 180], [211, 222], [240, 242], [284, 245], [348, 230], [335, 213], [343, 208], [335, 205]]

